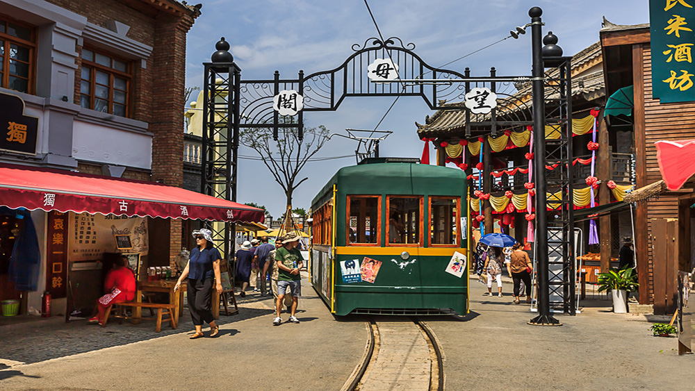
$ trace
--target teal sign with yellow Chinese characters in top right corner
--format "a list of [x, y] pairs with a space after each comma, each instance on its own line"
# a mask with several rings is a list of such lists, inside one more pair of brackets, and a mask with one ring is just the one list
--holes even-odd
[[695, 0], [650, 0], [652, 97], [661, 103], [695, 101]]

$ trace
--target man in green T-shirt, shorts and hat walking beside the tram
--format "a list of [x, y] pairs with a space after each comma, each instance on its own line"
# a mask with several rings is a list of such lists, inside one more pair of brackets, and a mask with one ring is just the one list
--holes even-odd
[[295, 317], [298, 298], [302, 291], [300, 269], [302, 269], [302, 262], [304, 261], [302, 253], [295, 248], [299, 240], [300, 237], [296, 233], [288, 233], [285, 235], [285, 240], [282, 241], [282, 247], [275, 251], [275, 263], [277, 264], [277, 303], [275, 303], [275, 308], [277, 317], [272, 320], [273, 326], [279, 326], [282, 323], [280, 312], [287, 287], [290, 287], [290, 295], [292, 296], [290, 322], [300, 322]]

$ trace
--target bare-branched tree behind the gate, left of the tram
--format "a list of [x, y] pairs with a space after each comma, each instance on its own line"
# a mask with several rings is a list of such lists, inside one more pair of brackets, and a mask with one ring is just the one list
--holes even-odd
[[[281, 117], [282, 124], [293, 124], [292, 117]], [[272, 128], [244, 128], [240, 131], [241, 144], [254, 149], [268, 167], [270, 174], [285, 193], [287, 208], [292, 210], [292, 194], [309, 177], [300, 179], [306, 162], [329, 140], [330, 131], [325, 126], [304, 129], [304, 139], [299, 138], [299, 128], [280, 128], [277, 141], [272, 139]], [[291, 226], [291, 216], [285, 220]]]

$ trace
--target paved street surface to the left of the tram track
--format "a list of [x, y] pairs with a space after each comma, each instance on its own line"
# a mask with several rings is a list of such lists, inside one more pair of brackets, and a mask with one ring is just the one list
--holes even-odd
[[[240, 299], [241, 316], [221, 317], [219, 338], [188, 340], [192, 326], [187, 320], [177, 331], [163, 326], [165, 336], [154, 333], [152, 322], [124, 322], [106, 328], [70, 324], [52, 331], [58, 338], [27, 335], [14, 338], [10, 347], [3, 340], [0, 363], [31, 364], [0, 371], [0, 389], [339, 390], [361, 359], [364, 322], [334, 319], [306, 280], [300, 324], [272, 326], [271, 299], [259, 299]], [[36, 332], [49, 333], [49, 328]], [[81, 338], [111, 347], [89, 349]], [[49, 351], [46, 357], [57, 357], [35, 362], [44, 357], [42, 349]], [[70, 349], [76, 354], [65, 356]]]

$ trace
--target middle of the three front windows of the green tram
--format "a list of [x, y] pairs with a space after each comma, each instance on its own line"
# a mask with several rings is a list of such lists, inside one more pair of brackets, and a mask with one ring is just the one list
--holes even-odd
[[389, 243], [420, 242], [420, 198], [389, 197]]

